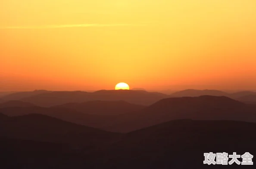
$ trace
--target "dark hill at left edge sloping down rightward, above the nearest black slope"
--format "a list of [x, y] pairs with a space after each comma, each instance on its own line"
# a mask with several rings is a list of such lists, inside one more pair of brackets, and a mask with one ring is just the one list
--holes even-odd
[[105, 144], [118, 133], [62, 121], [46, 115], [30, 114], [5, 118], [0, 123], [0, 137], [59, 142], [76, 146]]

